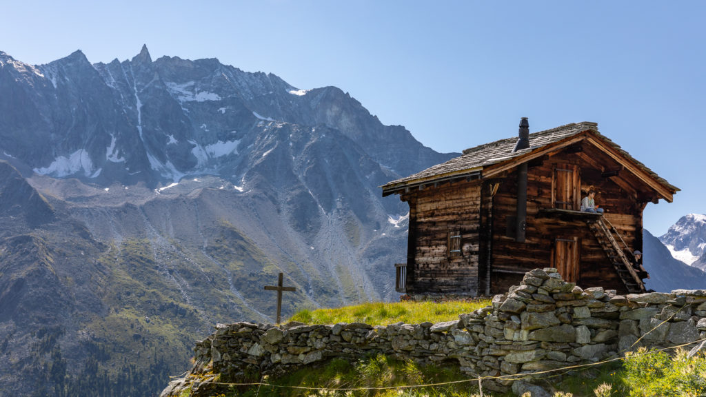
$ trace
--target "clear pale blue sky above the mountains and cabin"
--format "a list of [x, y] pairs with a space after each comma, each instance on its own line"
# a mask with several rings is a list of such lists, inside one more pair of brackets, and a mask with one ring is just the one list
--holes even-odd
[[[590, 121], [678, 186], [662, 235], [706, 213], [705, 1], [5, 2], [0, 50], [44, 64], [217, 58], [301, 89], [335, 85], [450, 152]], [[1, 94], [1, 93], [0, 93]]]

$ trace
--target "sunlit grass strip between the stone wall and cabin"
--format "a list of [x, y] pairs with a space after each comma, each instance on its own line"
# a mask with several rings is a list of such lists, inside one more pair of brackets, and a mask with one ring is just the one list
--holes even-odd
[[336, 309], [301, 310], [289, 321], [304, 324], [365, 323], [372, 326], [402, 322], [420, 324], [425, 321], [438, 323], [458, 319], [459, 314], [470, 313], [490, 304], [479, 302], [396, 302], [364, 303]]

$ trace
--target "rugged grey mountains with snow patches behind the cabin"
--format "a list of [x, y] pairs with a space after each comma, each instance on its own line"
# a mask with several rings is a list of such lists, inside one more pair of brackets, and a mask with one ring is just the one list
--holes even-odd
[[[156, 393], [214, 324], [272, 322], [280, 272], [284, 317], [397, 300], [408, 208], [378, 186], [458, 155], [339, 88], [147, 47], [0, 52], [0, 93], [0, 397]], [[706, 287], [649, 232], [645, 266]]]

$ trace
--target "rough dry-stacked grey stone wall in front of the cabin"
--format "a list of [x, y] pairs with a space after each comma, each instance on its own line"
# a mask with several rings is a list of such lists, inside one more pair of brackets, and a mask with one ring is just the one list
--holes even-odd
[[[469, 377], [498, 377], [563, 368], [706, 338], [706, 291], [616, 295], [566, 283], [554, 268], [528, 272], [492, 305], [438, 324], [284, 326], [246, 322], [216, 326], [196, 344], [195, 364], [162, 396], [208, 395], [208, 380], [260, 379], [333, 357], [357, 360], [382, 353], [417, 362], [450, 362]], [[520, 376], [517, 376], [519, 378]], [[194, 382], [196, 379], [196, 383]], [[484, 379], [507, 391], [515, 377]], [[201, 386], [201, 387], [200, 387]]]

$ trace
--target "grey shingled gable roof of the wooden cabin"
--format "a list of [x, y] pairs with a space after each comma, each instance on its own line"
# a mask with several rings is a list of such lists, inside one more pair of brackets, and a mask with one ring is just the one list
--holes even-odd
[[[666, 189], [673, 192], [679, 190], [669, 184], [669, 182], [666, 182], [665, 179], [662, 179], [659, 175], [652, 172], [652, 170], [647, 168], [642, 162], [635, 160], [628, 152], [621, 149], [620, 146], [616, 145], [616, 143], [609, 138], [600, 134], [598, 132], [598, 124], [592, 122], [566, 124], [554, 129], [535, 132], [534, 134], [530, 134], [530, 148], [517, 150], [516, 152], [513, 152], [513, 148], [515, 148], [515, 143], [517, 143], [517, 137], [501, 139], [500, 141], [469, 148], [463, 150], [463, 154], [460, 157], [434, 165], [424, 171], [417, 172], [417, 174], [412, 174], [409, 177], [388, 182], [380, 187], [383, 189], [383, 196], [388, 196], [389, 194], [399, 193], [401, 189], [407, 189], [412, 186], [462, 177], [483, 177], [483, 170], [487, 170], [491, 166], [501, 165], [503, 162], [508, 162], [508, 160], [519, 158], [520, 156], [530, 157], [531, 153], [542, 150], [547, 146], [554, 146], [554, 144], [571, 140], [572, 137], [578, 136], [579, 134], [591, 134], [599, 138], [600, 141], [614, 148], [623, 158], [632, 162], [638, 169], [649, 174], [650, 177], [654, 178], [656, 182], [662, 184]], [[528, 158], [527, 160], [530, 159]]]

